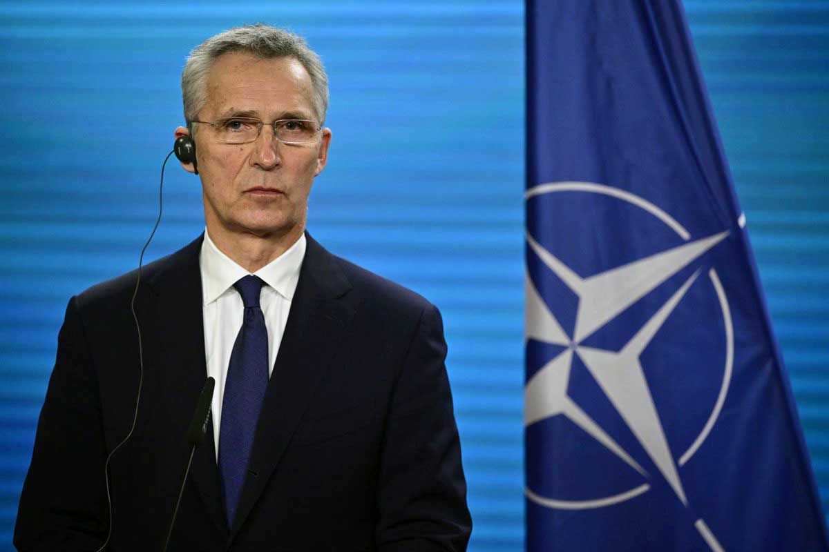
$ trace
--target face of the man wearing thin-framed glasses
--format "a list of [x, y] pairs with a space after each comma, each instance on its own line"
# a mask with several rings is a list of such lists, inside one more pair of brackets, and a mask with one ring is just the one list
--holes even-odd
[[[318, 121], [308, 72], [293, 58], [221, 55], [207, 79], [206, 103], [196, 117], [252, 117]], [[177, 136], [186, 129], [177, 129]], [[255, 142], [219, 142], [216, 129], [195, 123], [196, 162], [201, 175], [205, 221], [211, 238], [232, 233], [298, 238], [305, 228], [313, 178], [327, 161], [331, 131], [311, 143], [289, 145], [265, 125]], [[192, 166], [185, 166], [192, 170]]]

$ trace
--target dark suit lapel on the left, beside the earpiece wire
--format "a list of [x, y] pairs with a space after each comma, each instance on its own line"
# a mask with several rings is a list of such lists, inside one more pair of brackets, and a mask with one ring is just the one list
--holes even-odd
[[[172, 444], [180, 437], [182, 466], [190, 450], [184, 439], [193, 408], [207, 377], [199, 253], [202, 238], [174, 254], [150, 282], [158, 292], [158, 331], [162, 345], [159, 363], [161, 404], [172, 430]], [[172, 462], [177, 461], [172, 456]], [[227, 530], [222, 511], [219, 472], [212, 421], [206, 439], [193, 455], [191, 483], [211, 520], [222, 532]]]

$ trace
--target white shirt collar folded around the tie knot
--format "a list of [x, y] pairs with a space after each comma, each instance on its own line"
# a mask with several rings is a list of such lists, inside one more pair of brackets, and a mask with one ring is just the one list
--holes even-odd
[[[303, 233], [291, 247], [288, 247], [286, 252], [255, 271], [254, 276], [259, 276], [265, 284], [274, 288], [285, 299], [293, 300], [293, 292], [297, 289], [299, 281], [299, 268], [305, 257], [306, 243]], [[250, 274], [219, 251], [206, 229], [204, 242], [201, 243], [199, 266], [201, 268], [201, 299], [204, 305], [217, 300], [240, 278]]]

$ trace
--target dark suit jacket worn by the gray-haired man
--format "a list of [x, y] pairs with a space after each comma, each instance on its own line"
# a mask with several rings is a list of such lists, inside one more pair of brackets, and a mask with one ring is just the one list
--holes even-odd
[[[206, 378], [201, 238], [73, 297], [37, 425], [20, 550], [161, 550]], [[212, 428], [196, 449], [170, 550], [464, 550], [471, 530], [438, 310], [308, 237], [228, 527]]]

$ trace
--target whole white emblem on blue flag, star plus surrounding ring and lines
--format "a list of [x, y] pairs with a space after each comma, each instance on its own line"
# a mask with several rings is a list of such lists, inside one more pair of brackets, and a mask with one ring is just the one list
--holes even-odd
[[[574, 355], [584, 364], [589, 373], [598, 383], [600, 389], [607, 396], [610, 404], [618, 411], [624, 423], [633, 433], [633, 436], [642, 445], [642, 449], [651, 458], [653, 465], [671, 487], [676, 497], [685, 506], [688, 506], [686, 490], [682, 486], [678, 473], [678, 466], [683, 465], [699, 448], [705, 440], [711, 428], [715, 424], [720, 413], [720, 408], [725, 401], [725, 394], [728, 391], [730, 382], [731, 367], [733, 361], [733, 328], [730, 321], [730, 310], [725, 292], [712, 268], [708, 276], [720, 301], [720, 310], [723, 314], [725, 324], [726, 354], [725, 371], [723, 382], [720, 387], [720, 394], [710, 417], [702, 428], [700, 434], [691, 447], [681, 454], [678, 461], [672, 454], [668, 445], [665, 431], [662, 428], [657, 408], [654, 404], [650, 388], [647, 384], [640, 356], [651, 343], [652, 338], [657, 334], [662, 325], [670, 317], [671, 312], [679, 305], [686, 292], [691, 288], [701, 270], [695, 271], [676, 289], [670, 298], [662, 304], [656, 313], [647, 319], [633, 334], [633, 337], [625, 343], [622, 348], [606, 350], [585, 346], [584, 340], [594, 335], [604, 326], [628, 307], [632, 306], [642, 297], [662, 285], [671, 276], [676, 275], [691, 262], [701, 257], [705, 252], [710, 251], [729, 233], [715, 233], [705, 238], [691, 240], [690, 233], [677, 223], [662, 209], [648, 203], [629, 192], [618, 190], [611, 186], [599, 185], [588, 182], [560, 182], [536, 186], [527, 191], [527, 199], [534, 195], [547, 194], [560, 191], [579, 191], [594, 194], [604, 194], [622, 199], [634, 204], [648, 213], [660, 218], [673, 229], [685, 242], [677, 247], [671, 247], [662, 252], [657, 252], [648, 257], [628, 262], [607, 271], [594, 274], [589, 277], [582, 277], [576, 274], [570, 266], [562, 262], [558, 257], [547, 251], [529, 233], [526, 235], [527, 245], [532, 252], [541, 259], [547, 268], [557, 276], [565, 286], [573, 291], [578, 297], [578, 308], [576, 311], [573, 335], [570, 336], [562, 328], [560, 322], [550, 311], [545, 301], [536, 289], [529, 274], [525, 277], [526, 287], [526, 338], [542, 343], [550, 343], [565, 347], [563, 351], [545, 363], [538, 370], [525, 387], [525, 426], [532, 425], [555, 415], [563, 415], [568, 420], [584, 430], [605, 449], [615, 454], [618, 458], [636, 470], [646, 480], [651, 474], [642, 467], [628, 451], [618, 444], [613, 437], [605, 431], [601, 425], [593, 420], [590, 415], [568, 395], [570, 382], [570, 371]], [[526, 489], [526, 496], [541, 506], [552, 508], [565, 508], [578, 510], [585, 508], [596, 508], [609, 506], [636, 497], [642, 492], [647, 492], [650, 485], [642, 484], [627, 492], [622, 492], [612, 497], [598, 498], [587, 501], [565, 501], [550, 497], [543, 497], [531, 488]], [[715, 536], [711, 533], [705, 521], [699, 519], [695, 523], [696, 529], [700, 532], [711, 550], [723, 550]]]

